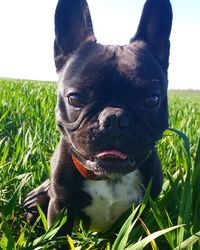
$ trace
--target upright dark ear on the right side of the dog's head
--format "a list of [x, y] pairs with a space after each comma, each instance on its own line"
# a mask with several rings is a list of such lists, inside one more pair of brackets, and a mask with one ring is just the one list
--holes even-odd
[[131, 42], [143, 40], [149, 44], [165, 70], [169, 64], [172, 8], [169, 0], [147, 0], [138, 30]]

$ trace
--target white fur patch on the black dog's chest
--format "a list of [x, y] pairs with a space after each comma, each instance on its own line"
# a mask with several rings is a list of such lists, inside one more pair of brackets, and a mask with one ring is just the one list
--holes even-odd
[[82, 211], [91, 220], [91, 229], [104, 231], [132, 205], [143, 200], [142, 181], [138, 170], [120, 180], [86, 180], [84, 191], [92, 197], [90, 206]]

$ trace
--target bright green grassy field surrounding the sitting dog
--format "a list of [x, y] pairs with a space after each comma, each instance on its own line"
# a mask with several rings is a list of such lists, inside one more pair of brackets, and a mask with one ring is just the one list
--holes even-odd
[[[0, 80], [0, 249], [53, 249], [66, 240], [52, 239], [59, 218], [47, 229], [40, 212], [30, 227], [22, 210], [25, 195], [49, 176], [59, 140], [55, 103], [54, 83]], [[147, 191], [144, 203], [104, 234], [80, 223], [72, 249], [200, 249], [200, 92], [170, 91], [169, 114], [173, 129], [157, 145], [165, 176], [159, 198], [152, 202]]]

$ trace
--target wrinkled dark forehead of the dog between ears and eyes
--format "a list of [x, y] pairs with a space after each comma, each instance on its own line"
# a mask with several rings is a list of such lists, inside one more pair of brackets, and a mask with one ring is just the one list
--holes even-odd
[[144, 42], [126, 46], [85, 44], [66, 62], [60, 77], [60, 82], [69, 87], [102, 81], [135, 86], [157, 81], [163, 91], [167, 90], [165, 74]]

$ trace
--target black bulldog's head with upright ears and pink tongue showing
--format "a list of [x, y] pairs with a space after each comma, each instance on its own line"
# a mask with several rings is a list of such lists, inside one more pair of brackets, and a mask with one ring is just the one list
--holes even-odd
[[79, 162], [100, 178], [126, 174], [168, 127], [167, 68], [172, 10], [147, 0], [126, 46], [96, 42], [85, 0], [55, 13], [57, 124]]

